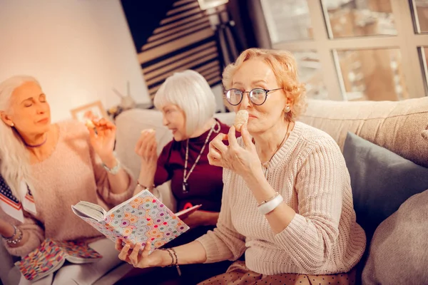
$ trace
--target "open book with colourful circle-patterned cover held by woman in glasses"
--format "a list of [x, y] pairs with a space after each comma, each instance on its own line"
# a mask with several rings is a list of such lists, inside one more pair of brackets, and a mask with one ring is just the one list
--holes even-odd
[[154, 248], [162, 247], [189, 229], [188, 225], [160, 202], [151, 192], [144, 190], [127, 202], [114, 207], [103, 221], [82, 217], [108, 239], [127, 239], [133, 244], [151, 240]]

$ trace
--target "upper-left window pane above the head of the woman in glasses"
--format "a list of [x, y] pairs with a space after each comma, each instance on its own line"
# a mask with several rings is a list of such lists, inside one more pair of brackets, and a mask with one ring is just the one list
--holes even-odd
[[312, 38], [307, 0], [262, 0], [270, 41], [296, 41]]

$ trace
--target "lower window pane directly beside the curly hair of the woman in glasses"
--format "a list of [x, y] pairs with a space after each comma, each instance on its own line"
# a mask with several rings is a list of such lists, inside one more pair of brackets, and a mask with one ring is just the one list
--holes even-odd
[[297, 61], [300, 81], [306, 83], [308, 98], [327, 99], [327, 89], [322, 81], [320, 58], [315, 51], [293, 53]]

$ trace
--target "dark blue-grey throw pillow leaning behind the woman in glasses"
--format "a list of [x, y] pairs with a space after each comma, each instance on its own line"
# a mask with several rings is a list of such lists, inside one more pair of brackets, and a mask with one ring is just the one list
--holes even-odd
[[352, 133], [347, 133], [343, 155], [357, 223], [365, 229], [368, 244], [384, 219], [409, 197], [428, 189], [428, 169]]

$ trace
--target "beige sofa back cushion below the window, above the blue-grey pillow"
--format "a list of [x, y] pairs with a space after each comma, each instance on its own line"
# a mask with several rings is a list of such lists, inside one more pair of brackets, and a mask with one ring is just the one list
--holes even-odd
[[324, 130], [342, 150], [350, 131], [428, 167], [428, 142], [421, 135], [428, 125], [427, 97], [396, 102], [309, 100], [300, 120]]

